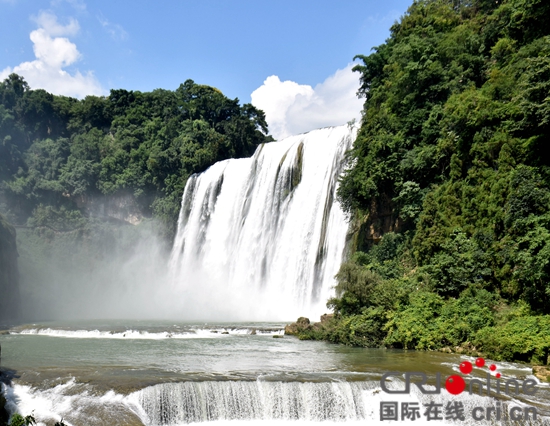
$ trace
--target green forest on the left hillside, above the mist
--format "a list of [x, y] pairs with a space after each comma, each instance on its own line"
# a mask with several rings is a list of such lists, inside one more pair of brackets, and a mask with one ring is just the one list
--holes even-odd
[[262, 111], [192, 80], [77, 100], [12, 74], [0, 83], [0, 211], [18, 225], [66, 231], [119, 197], [170, 234], [191, 174], [267, 140]]

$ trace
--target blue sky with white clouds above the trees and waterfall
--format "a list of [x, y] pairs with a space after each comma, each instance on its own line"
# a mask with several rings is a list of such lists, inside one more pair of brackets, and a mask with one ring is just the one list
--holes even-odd
[[15, 72], [32, 89], [84, 98], [192, 79], [264, 110], [280, 139], [360, 119], [353, 58], [411, 3], [0, 0], [0, 81]]

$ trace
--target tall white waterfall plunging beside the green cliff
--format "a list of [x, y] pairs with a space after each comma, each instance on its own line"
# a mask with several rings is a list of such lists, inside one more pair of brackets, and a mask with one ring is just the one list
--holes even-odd
[[196, 318], [289, 320], [326, 311], [348, 224], [336, 200], [347, 126], [263, 144], [189, 178], [170, 258]]

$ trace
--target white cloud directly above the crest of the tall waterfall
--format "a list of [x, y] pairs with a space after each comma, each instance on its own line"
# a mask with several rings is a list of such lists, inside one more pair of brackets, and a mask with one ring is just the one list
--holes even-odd
[[252, 104], [265, 112], [276, 139], [359, 120], [363, 101], [356, 95], [359, 75], [352, 67], [337, 70], [315, 88], [272, 75], [252, 92]]

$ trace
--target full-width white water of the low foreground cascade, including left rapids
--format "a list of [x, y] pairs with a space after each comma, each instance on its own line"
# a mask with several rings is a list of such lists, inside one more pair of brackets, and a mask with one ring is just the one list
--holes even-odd
[[[401, 389], [403, 383], [397, 379], [386, 386]], [[203, 422], [209, 425], [249, 425], [250, 422], [263, 425], [385, 424], [388, 421], [380, 421], [382, 401], [418, 404], [423, 414], [415, 423], [432, 424], [426, 419], [425, 404], [445, 406], [457, 400], [446, 392], [422, 395], [415, 387], [408, 395], [389, 395], [381, 390], [378, 381], [187, 381], [149, 386], [129, 395], [112, 390], [97, 394], [89, 385], [78, 384], [74, 379], [47, 390], [25, 385], [12, 388], [2, 384], [2, 387], [8, 410], [33, 411], [39, 426], [61, 418], [69, 426], [102, 425], [107, 419], [110, 419], [108, 424], [122, 424], [126, 419], [134, 424], [139, 419], [146, 426]], [[475, 407], [486, 409], [497, 404], [501, 404], [502, 413], [507, 413], [511, 407], [527, 406], [514, 399], [497, 403], [494, 398], [467, 394], [461, 395], [459, 401], [464, 407], [465, 421], [442, 419], [439, 424], [514, 424], [507, 421], [506, 414], [502, 421], [480, 422], [475, 421], [471, 413]], [[546, 421], [539, 417], [538, 421], [529, 424], [546, 424]]]

